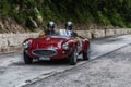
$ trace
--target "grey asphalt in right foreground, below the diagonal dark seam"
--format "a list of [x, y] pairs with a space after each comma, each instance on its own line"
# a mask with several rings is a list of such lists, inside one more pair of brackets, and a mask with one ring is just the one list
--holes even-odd
[[131, 45], [25, 87], [131, 87]]

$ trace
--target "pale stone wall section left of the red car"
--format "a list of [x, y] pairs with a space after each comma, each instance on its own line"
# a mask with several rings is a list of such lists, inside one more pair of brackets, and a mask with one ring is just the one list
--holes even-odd
[[0, 53], [16, 52], [22, 50], [22, 42], [28, 37], [37, 37], [32, 34], [0, 34]]

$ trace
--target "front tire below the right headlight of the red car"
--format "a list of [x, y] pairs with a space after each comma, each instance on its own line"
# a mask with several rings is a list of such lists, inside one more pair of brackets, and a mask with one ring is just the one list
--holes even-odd
[[74, 48], [72, 50], [71, 54], [69, 55], [69, 63], [70, 63], [70, 65], [75, 65], [76, 64], [76, 60], [78, 60], [76, 48]]

